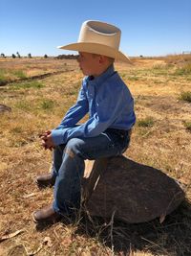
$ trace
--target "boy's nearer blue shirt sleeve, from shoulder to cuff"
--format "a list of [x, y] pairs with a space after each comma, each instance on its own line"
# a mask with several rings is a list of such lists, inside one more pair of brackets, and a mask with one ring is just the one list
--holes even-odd
[[54, 144], [65, 144], [69, 139], [76, 137], [95, 137], [109, 128], [121, 112], [121, 97], [122, 90], [115, 93], [111, 88], [106, 90], [101, 98], [96, 99], [96, 113], [87, 122], [78, 127], [52, 131]]

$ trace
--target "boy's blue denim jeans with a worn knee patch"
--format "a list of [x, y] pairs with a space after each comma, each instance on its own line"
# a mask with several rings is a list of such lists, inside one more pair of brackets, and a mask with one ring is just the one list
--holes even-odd
[[120, 155], [130, 142], [130, 132], [108, 128], [91, 138], [73, 138], [53, 150], [53, 209], [59, 214], [71, 214], [80, 207], [81, 179], [85, 159]]

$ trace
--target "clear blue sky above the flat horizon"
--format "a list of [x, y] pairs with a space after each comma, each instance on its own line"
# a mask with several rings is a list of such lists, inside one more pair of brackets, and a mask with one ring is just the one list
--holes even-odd
[[0, 54], [71, 54], [56, 46], [75, 42], [88, 19], [119, 27], [130, 57], [191, 51], [191, 0], [0, 0]]

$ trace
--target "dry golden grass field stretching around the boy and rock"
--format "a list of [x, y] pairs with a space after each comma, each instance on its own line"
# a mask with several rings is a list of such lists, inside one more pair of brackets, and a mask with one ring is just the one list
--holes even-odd
[[74, 104], [82, 74], [75, 60], [0, 58], [0, 105], [11, 107], [0, 112], [0, 255], [191, 255], [191, 56], [132, 61], [116, 63], [137, 114], [125, 155], [180, 180], [186, 200], [162, 223], [111, 226], [78, 216], [36, 226], [32, 212], [53, 199], [34, 182], [52, 161], [39, 134]]

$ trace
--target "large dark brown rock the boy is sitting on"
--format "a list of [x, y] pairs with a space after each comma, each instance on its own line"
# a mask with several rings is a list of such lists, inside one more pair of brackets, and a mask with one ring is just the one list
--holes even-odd
[[85, 204], [92, 216], [114, 216], [129, 223], [157, 217], [162, 220], [184, 198], [184, 192], [173, 178], [124, 156], [109, 158], [107, 165], [96, 166], [100, 176]]

